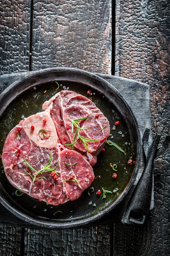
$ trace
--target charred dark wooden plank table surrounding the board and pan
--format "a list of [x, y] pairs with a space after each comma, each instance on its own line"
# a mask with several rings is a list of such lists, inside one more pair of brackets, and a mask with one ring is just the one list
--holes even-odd
[[[170, 132], [169, 11], [169, 0], [0, 0], [0, 75], [76, 67], [150, 84], [153, 135], [163, 139]], [[0, 256], [170, 256], [170, 147], [153, 171], [146, 225], [1, 225]]]

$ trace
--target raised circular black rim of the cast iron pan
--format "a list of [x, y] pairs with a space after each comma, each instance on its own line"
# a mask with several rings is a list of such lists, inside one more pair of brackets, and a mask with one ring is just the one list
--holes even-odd
[[[29, 215], [27, 215], [26, 213], [23, 213], [21, 210], [17, 210], [16, 207], [12, 206], [11, 203], [9, 203], [5, 198], [3, 198], [2, 195], [2, 189], [0, 189], [0, 203], [3, 204], [4, 207], [6, 207], [6, 209], [8, 209], [10, 212], [12, 212], [14, 215], [16, 215], [18, 218], [21, 218], [24, 221], [29, 222], [30, 224], [34, 224], [35, 226], [39, 226], [39, 227], [45, 227], [45, 228], [71, 228], [71, 227], [79, 227], [85, 224], [90, 224], [93, 221], [97, 221], [99, 220], [99, 218], [102, 218], [104, 215], [106, 215], [108, 212], [111, 212], [111, 210], [113, 210], [114, 208], [116, 208], [125, 198], [125, 196], [127, 195], [127, 193], [130, 191], [130, 189], [133, 186], [134, 181], [136, 180], [136, 176], [138, 174], [139, 171], [139, 167], [140, 167], [140, 163], [141, 163], [141, 157], [142, 157], [142, 140], [141, 140], [141, 135], [140, 135], [140, 130], [139, 130], [139, 125], [137, 123], [136, 117], [132, 111], [132, 109], [130, 108], [130, 106], [128, 105], [126, 99], [122, 96], [121, 93], [119, 93], [119, 91], [112, 85], [110, 84], [108, 81], [106, 81], [105, 79], [99, 77], [96, 75], [96, 73], [90, 73], [84, 70], [80, 70], [80, 69], [76, 69], [76, 68], [68, 68], [68, 67], [58, 67], [58, 68], [47, 68], [44, 70], [37, 70], [34, 71], [31, 74], [28, 74], [20, 79], [18, 79], [17, 81], [14, 81], [11, 85], [9, 85], [1, 94], [0, 94], [0, 101], [6, 96], [7, 93], [10, 92], [11, 89], [13, 89], [14, 87], [17, 87], [17, 84], [20, 84], [21, 82], [37, 76], [37, 75], [41, 75], [41, 74], [45, 74], [45, 73], [49, 73], [49, 72], [55, 72], [55, 71], [68, 71], [68, 72], [77, 72], [77, 73], [82, 73], [84, 75], [87, 76], [91, 76], [94, 79], [99, 80], [100, 82], [106, 84], [108, 87], [110, 87], [121, 99], [122, 101], [125, 103], [126, 107], [128, 108], [128, 110], [130, 111], [130, 114], [133, 117], [135, 126], [136, 126], [136, 131], [137, 131], [137, 138], [138, 138], [138, 155], [137, 155], [137, 163], [136, 163], [136, 167], [133, 170], [133, 176], [129, 182], [129, 184], [126, 186], [126, 188], [124, 189], [124, 191], [122, 192], [122, 195], [116, 199], [116, 201], [111, 204], [109, 207], [106, 207], [104, 210], [98, 212], [96, 215], [91, 216], [89, 218], [85, 218], [83, 220], [78, 220], [78, 221], [73, 221], [73, 222], [61, 222], [61, 223], [57, 223], [54, 221], [48, 221], [47, 219], [42, 219], [40, 220], [39, 216], [34, 216], [31, 217]], [[119, 77], [117, 77], [119, 79]], [[130, 79], [128, 79], [130, 80]], [[132, 80], [133, 81], [133, 80]], [[29, 87], [30, 88], [30, 87]], [[26, 90], [23, 90], [26, 91]], [[21, 93], [23, 93], [23, 91]], [[13, 99], [12, 99], [13, 100]], [[11, 100], [11, 102], [12, 102]], [[9, 102], [9, 104], [11, 103]], [[8, 104], [8, 105], [9, 105]], [[5, 109], [7, 108], [8, 105], [5, 105]], [[2, 187], [1, 183], [0, 186]], [[26, 210], [25, 210], [26, 211]], [[26, 211], [28, 212], [28, 211]], [[34, 214], [32, 214], [34, 215]], [[57, 219], [56, 219], [57, 221]]]

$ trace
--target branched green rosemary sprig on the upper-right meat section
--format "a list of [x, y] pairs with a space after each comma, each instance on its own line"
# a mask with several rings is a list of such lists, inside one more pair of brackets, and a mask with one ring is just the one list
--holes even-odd
[[[87, 146], [87, 145], [88, 145], [87, 141], [96, 141], [96, 142], [99, 142], [99, 140], [87, 139], [87, 138], [82, 137], [82, 136], [79, 134], [79, 130], [88, 130], [88, 129], [91, 128], [91, 127], [89, 127], [89, 128], [81, 128], [81, 127], [79, 127], [80, 122], [81, 122], [82, 120], [86, 120], [86, 119], [89, 119], [89, 118], [91, 118], [91, 116], [85, 117], [85, 118], [80, 118], [80, 119], [75, 119], [75, 120], [72, 120], [72, 119], [68, 118], [68, 120], [71, 121], [71, 134], [73, 134], [74, 127], [76, 127], [77, 130], [76, 130], [76, 132], [75, 132], [75, 134], [74, 134], [73, 142], [72, 142], [71, 144], [65, 144], [65, 146], [72, 146], [72, 149], [73, 149], [74, 144], [77, 143], [77, 140], [80, 139], [80, 140], [82, 141], [82, 143], [85, 145], [87, 151], [89, 151], [88, 146]], [[77, 135], [77, 139], [76, 139], [76, 135]], [[75, 140], [75, 139], [76, 139], [76, 140]]]

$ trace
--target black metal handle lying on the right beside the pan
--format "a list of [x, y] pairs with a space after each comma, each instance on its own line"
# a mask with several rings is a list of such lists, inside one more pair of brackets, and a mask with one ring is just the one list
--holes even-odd
[[163, 151], [166, 150], [170, 142], [170, 137], [167, 136], [165, 143], [163, 143], [161, 149], [157, 151], [160, 137], [160, 135], [156, 135], [153, 143], [149, 147], [146, 142], [146, 140], [149, 139], [148, 129], [144, 132], [143, 146], [146, 156], [146, 165], [122, 216], [122, 223], [124, 224], [144, 224], [146, 215], [149, 212], [152, 194], [153, 160], [155, 156], [158, 156], [159, 152], [162, 154]]

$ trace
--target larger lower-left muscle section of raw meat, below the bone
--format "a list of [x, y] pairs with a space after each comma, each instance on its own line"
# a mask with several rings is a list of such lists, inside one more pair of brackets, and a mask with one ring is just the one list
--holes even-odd
[[[77, 199], [94, 180], [94, 172], [88, 161], [80, 153], [66, 149], [61, 144], [51, 149], [36, 145], [24, 131], [24, 123], [23, 120], [20, 121], [19, 125], [8, 134], [3, 148], [3, 166], [9, 182], [31, 197], [48, 204], [58, 205]], [[21, 140], [17, 137], [17, 131]], [[56, 166], [58, 178], [55, 180], [51, 172], [43, 172], [37, 177], [45, 178], [39, 178], [33, 184], [30, 175], [34, 177], [36, 173], [26, 165], [23, 158], [39, 171], [47, 165], [51, 154], [50, 168]], [[63, 161], [66, 163], [76, 161], [76, 165], [67, 166]], [[62, 182], [71, 175], [77, 178], [79, 185], [74, 181]], [[49, 186], [50, 183], [52, 186]], [[49, 199], [52, 199], [52, 202], [49, 202]]]

